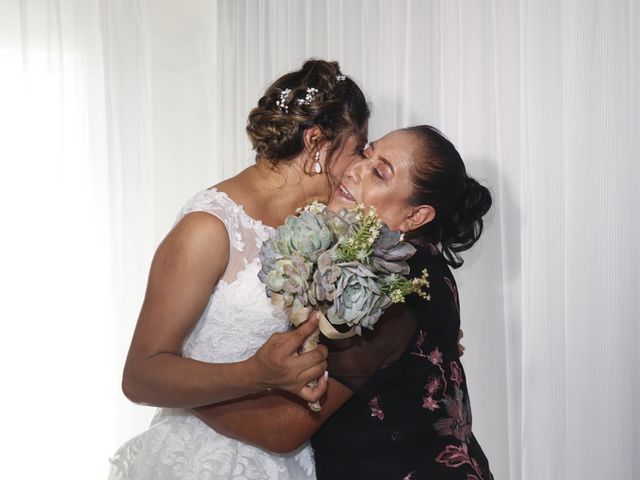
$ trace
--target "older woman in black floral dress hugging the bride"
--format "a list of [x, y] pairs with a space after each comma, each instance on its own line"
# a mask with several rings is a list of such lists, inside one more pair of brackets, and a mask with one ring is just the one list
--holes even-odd
[[[329, 206], [374, 206], [417, 247], [412, 275], [430, 299], [408, 298], [361, 337], [329, 341], [329, 389], [318, 413], [271, 392], [196, 412], [221, 433], [288, 452], [312, 435], [318, 479], [491, 480], [471, 430], [458, 352], [460, 306], [450, 267], [482, 233], [489, 191], [435, 128], [392, 132], [359, 154]], [[322, 380], [321, 380], [322, 381]]]

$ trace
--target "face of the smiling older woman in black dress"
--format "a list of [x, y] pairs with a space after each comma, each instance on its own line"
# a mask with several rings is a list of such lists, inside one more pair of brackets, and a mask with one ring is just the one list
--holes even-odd
[[[412, 159], [419, 153], [418, 148], [412, 133], [396, 130], [369, 143], [364, 152], [358, 152], [350, 159], [337, 159], [336, 175], [341, 164], [346, 167], [342, 167], [344, 173], [329, 208], [337, 211], [362, 204], [365, 208], [375, 207], [380, 219], [391, 230], [417, 228], [413, 217], [420, 207], [412, 207], [409, 196], [413, 188]], [[348, 165], [346, 160], [350, 160]]]

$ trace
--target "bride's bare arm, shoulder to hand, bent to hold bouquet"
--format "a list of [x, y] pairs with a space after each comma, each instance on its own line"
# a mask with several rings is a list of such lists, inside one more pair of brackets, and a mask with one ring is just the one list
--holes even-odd
[[242, 362], [211, 364], [181, 356], [182, 345], [209, 302], [229, 260], [224, 224], [203, 212], [186, 215], [162, 241], [125, 363], [122, 388], [132, 401], [193, 408], [271, 387], [308, 401], [323, 388], [305, 386], [326, 370], [326, 349], [303, 355], [299, 345], [316, 326], [275, 334]]

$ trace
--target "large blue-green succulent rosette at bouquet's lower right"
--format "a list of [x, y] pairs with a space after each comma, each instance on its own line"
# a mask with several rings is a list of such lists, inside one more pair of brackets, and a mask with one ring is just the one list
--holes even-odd
[[359, 263], [340, 265], [333, 304], [327, 310], [327, 319], [334, 325], [346, 324], [372, 329], [382, 311], [391, 305], [375, 273]]

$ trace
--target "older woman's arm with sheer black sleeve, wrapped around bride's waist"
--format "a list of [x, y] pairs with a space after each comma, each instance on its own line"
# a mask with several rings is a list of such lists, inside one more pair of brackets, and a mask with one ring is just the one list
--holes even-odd
[[[286, 453], [295, 450], [379, 368], [396, 361], [406, 350], [417, 328], [417, 317], [397, 304], [387, 310], [375, 331], [346, 340], [324, 341], [329, 345], [327, 395], [320, 412], [286, 393], [254, 396], [193, 412], [211, 428], [266, 450]], [[346, 385], [349, 385], [347, 387]]]

